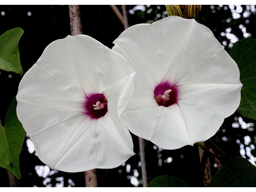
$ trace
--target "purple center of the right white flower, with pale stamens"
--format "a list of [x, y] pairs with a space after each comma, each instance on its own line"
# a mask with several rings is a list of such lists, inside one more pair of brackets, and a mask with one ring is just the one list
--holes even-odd
[[154, 90], [154, 98], [159, 106], [175, 104], [178, 101], [178, 86], [168, 81], [161, 82]]

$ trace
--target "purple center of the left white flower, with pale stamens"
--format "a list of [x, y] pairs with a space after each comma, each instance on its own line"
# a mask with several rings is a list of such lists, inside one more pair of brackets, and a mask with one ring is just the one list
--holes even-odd
[[103, 94], [86, 95], [83, 107], [84, 114], [91, 119], [98, 119], [108, 112], [108, 100]]

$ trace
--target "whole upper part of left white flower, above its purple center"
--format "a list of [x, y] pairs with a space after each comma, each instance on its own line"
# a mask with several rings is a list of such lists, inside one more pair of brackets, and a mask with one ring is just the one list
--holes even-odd
[[47, 46], [22, 78], [18, 98], [81, 111], [84, 92], [102, 93], [132, 72], [122, 56], [95, 39], [68, 36]]

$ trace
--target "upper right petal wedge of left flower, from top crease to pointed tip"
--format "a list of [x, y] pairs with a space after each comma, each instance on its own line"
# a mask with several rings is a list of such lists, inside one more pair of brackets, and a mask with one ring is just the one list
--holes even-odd
[[102, 93], [110, 85], [134, 72], [122, 56], [95, 39], [85, 35], [68, 36], [68, 39], [84, 90], [84, 85], [89, 82], [96, 92]]

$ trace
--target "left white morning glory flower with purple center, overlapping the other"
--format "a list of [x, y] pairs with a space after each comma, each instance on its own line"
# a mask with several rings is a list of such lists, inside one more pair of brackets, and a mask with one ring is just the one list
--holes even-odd
[[120, 114], [135, 72], [116, 52], [85, 35], [46, 47], [22, 78], [17, 115], [42, 162], [81, 172], [114, 168], [134, 155]]

